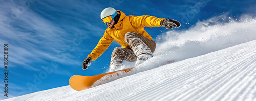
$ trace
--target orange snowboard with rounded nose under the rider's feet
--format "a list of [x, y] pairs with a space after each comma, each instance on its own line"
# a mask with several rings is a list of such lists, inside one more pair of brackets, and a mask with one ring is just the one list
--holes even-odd
[[74, 75], [72, 77], [70, 77], [69, 79], [69, 85], [72, 89], [76, 90], [76, 91], [81, 91], [81, 90], [85, 90], [88, 88], [91, 88], [92, 85], [99, 79], [101, 79], [103, 76], [105, 75], [109, 75], [109, 74], [114, 74], [117, 73], [115, 75], [119, 75], [118, 72], [119, 71], [124, 71], [124, 72], [128, 72], [130, 70], [132, 70], [134, 68], [129, 68], [129, 69], [124, 69], [124, 70], [118, 70], [118, 71], [114, 71], [114, 72], [109, 72], [109, 73], [103, 73], [103, 74], [99, 74], [99, 75], [94, 75], [94, 76], [82, 76], [82, 75]]

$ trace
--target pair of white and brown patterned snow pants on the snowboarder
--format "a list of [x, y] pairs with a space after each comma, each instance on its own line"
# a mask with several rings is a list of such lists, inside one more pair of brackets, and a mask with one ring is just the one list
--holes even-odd
[[156, 49], [156, 42], [135, 32], [125, 34], [125, 42], [130, 48], [116, 47], [111, 55], [110, 71], [116, 71], [123, 65], [123, 61], [135, 62], [137, 58], [151, 58]]

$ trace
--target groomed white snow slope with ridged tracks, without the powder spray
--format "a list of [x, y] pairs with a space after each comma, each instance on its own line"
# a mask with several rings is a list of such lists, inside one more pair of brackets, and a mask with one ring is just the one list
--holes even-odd
[[79, 92], [64, 86], [7, 100], [256, 100], [255, 46], [253, 40]]

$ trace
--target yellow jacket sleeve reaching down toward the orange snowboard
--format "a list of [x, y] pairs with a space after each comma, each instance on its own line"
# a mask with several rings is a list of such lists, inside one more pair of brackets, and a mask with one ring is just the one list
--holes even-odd
[[[107, 29], [108, 30], [108, 29]], [[113, 42], [113, 38], [109, 35], [109, 31], [104, 33], [103, 37], [99, 40], [99, 43], [97, 46], [93, 49], [91, 54], [88, 55], [88, 57], [91, 57], [94, 61], [102, 55], [106, 49], [110, 46], [110, 44]]]

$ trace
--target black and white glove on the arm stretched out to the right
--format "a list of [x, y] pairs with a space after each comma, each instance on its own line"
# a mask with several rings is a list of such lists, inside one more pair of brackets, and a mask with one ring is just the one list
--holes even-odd
[[173, 27], [180, 27], [180, 22], [173, 19], [166, 19], [161, 22], [161, 25], [164, 26], [166, 29], [172, 29]]

